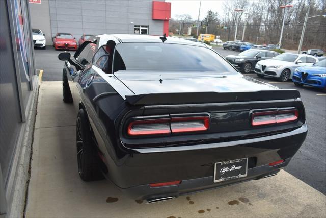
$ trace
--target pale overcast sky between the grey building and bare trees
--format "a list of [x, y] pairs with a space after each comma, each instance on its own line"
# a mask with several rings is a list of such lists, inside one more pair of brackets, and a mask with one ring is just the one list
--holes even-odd
[[[177, 14], [189, 14], [194, 20], [198, 19], [200, 0], [166, 0], [171, 2], [171, 17]], [[223, 14], [223, 4], [226, 0], [202, 0], [200, 9], [200, 20], [206, 16], [208, 10]]]

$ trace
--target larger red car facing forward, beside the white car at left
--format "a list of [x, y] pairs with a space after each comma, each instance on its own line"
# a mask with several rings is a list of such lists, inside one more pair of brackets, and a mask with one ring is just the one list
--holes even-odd
[[76, 50], [77, 42], [75, 39], [76, 38], [70, 33], [57, 33], [56, 36], [53, 37], [53, 47], [55, 47], [56, 50]]

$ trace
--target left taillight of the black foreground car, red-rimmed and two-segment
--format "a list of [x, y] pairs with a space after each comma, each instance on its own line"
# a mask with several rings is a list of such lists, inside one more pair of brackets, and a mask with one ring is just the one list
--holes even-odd
[[131, 136], [137, 136], [198, 132], [208, 130], [209, 125], [208, 116], [145, 119], [131, 122], [128, 125], [127, 133]]

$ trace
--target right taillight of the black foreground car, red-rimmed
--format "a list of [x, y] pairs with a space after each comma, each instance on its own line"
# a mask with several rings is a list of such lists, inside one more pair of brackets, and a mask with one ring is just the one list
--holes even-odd
[[298, 110], [274, 110], [255, 112], [252, 114], [251, 125], [261, 126], [268, 124], [278, 124], [297, 120], [299, 117]]

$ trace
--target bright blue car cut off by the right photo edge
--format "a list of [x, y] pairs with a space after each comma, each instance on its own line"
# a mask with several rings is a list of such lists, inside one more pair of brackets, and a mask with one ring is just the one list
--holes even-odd
[[296, 68], [292, 80], [296, 86], [309, 85], [326, 91], [326, 59], [312, 66]]

